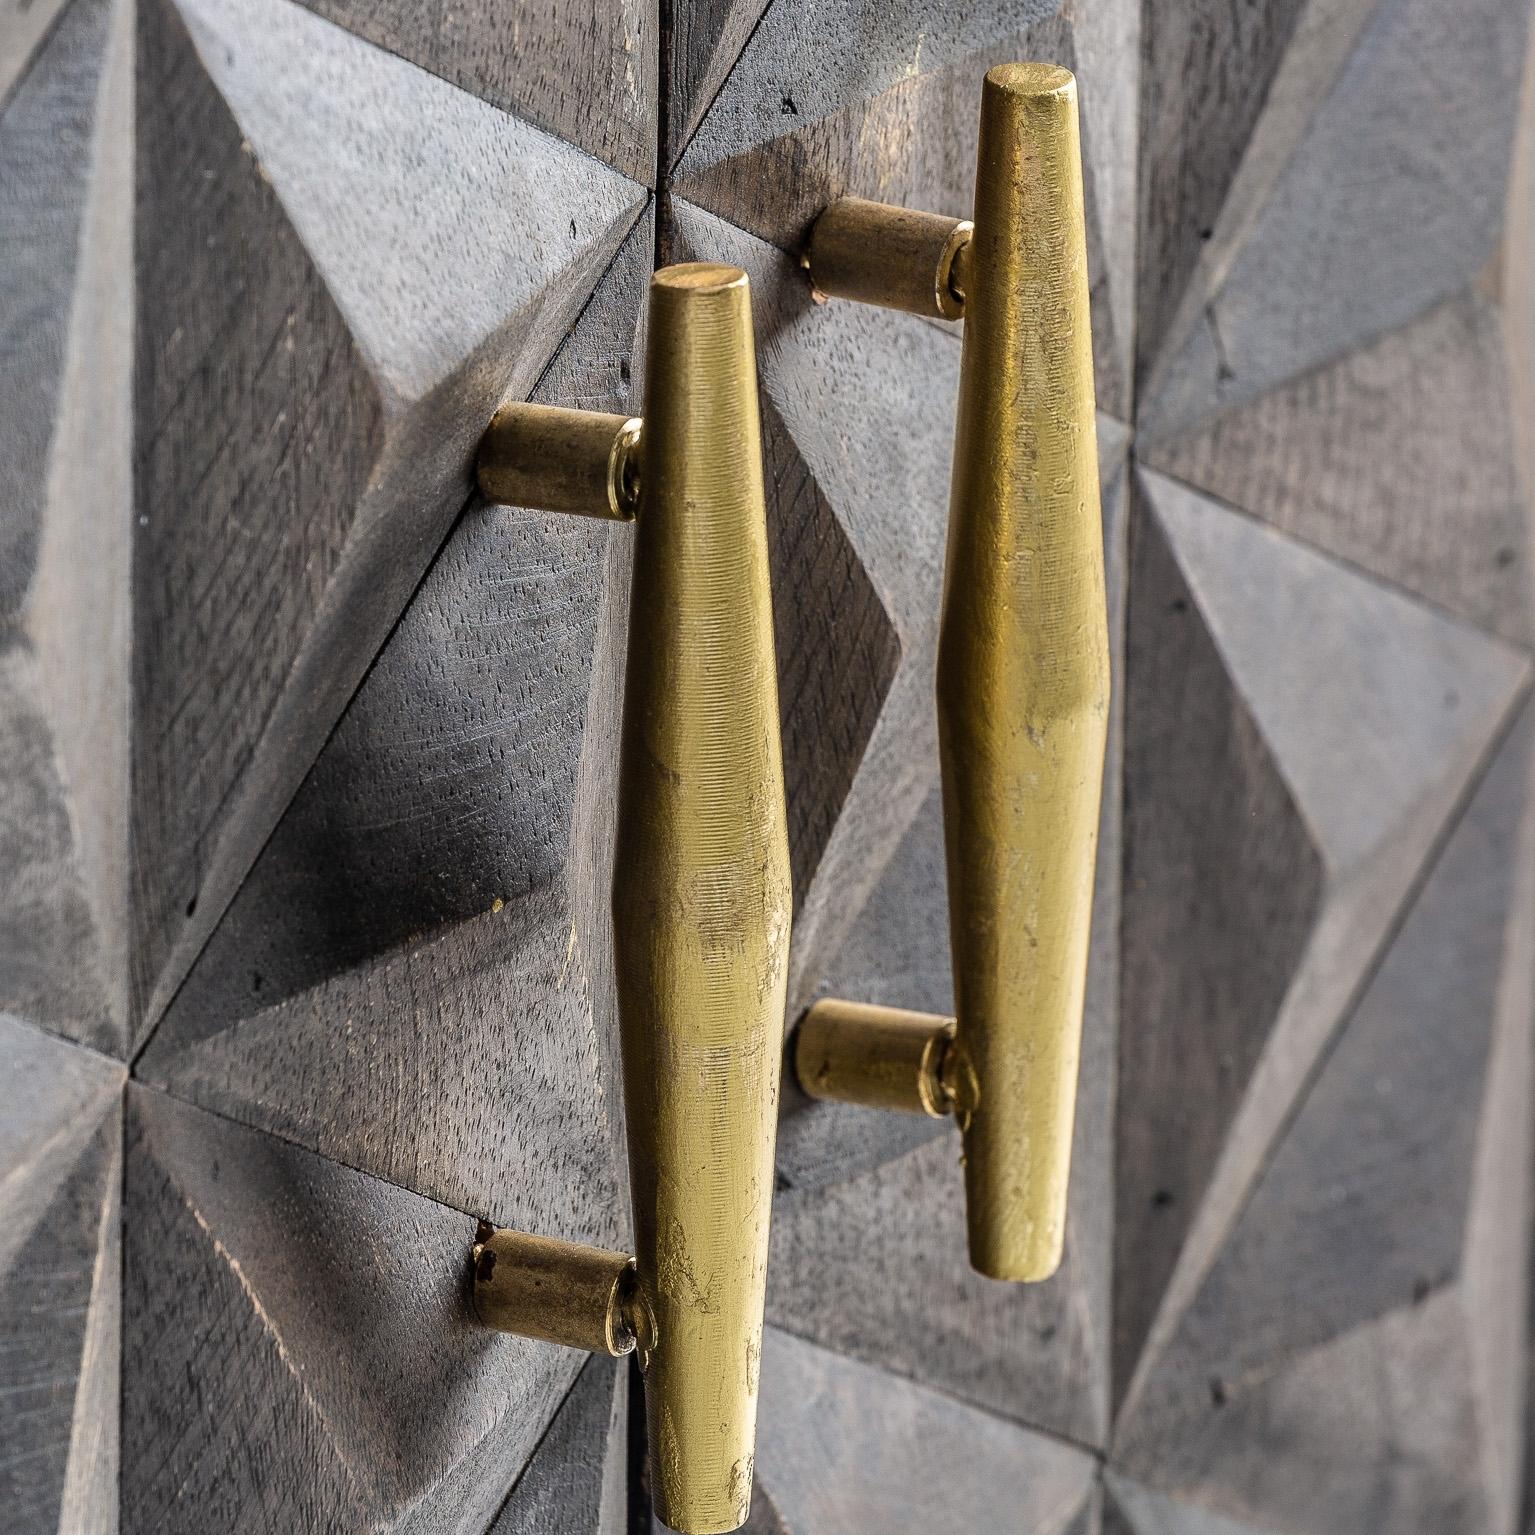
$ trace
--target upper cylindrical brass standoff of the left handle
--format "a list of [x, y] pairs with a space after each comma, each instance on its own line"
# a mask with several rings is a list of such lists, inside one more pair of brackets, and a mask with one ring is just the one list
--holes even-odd
[[634, 516], [640, 422], [514, 402], [496, 411], [474, 473], [487, 500], [582, 517]]

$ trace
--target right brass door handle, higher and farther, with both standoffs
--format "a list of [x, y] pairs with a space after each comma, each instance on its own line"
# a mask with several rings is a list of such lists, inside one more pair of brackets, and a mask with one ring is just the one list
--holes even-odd
[[806, 253], [829, 296], [964, 319], [938, 725], [955, 1021], [818, 1002], [807, 1093], [953, 1111], [970, 1260], [1048, 1279], [1065, 1234], [1108, 631], [1076, 81], [985, 77], [975, 220], [844, 198]]

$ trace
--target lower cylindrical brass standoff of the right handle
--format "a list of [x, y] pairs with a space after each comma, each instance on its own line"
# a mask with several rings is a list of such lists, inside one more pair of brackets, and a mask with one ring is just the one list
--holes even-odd
[[794, 1070], [810, 1098], [942, 1119], [953, 1036], [952, 1018], [823, 998], [800, 1022]]

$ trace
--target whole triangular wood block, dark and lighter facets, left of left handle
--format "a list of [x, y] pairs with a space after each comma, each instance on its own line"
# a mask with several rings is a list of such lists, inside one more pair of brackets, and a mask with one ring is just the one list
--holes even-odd
[[[649, 259], [646, 220], [537, 398], [626, 408]], [[500, 1225], [625, 1240], [606, 910], [625, 573], [622, 528], [460, 517], [147, 1079]]]

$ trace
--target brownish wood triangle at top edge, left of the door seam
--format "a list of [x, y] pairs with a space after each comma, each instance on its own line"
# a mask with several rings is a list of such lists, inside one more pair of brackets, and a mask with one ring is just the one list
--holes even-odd
[[655, 175], [655, 0], [304, 0], [332, 21], [605, 160]]

